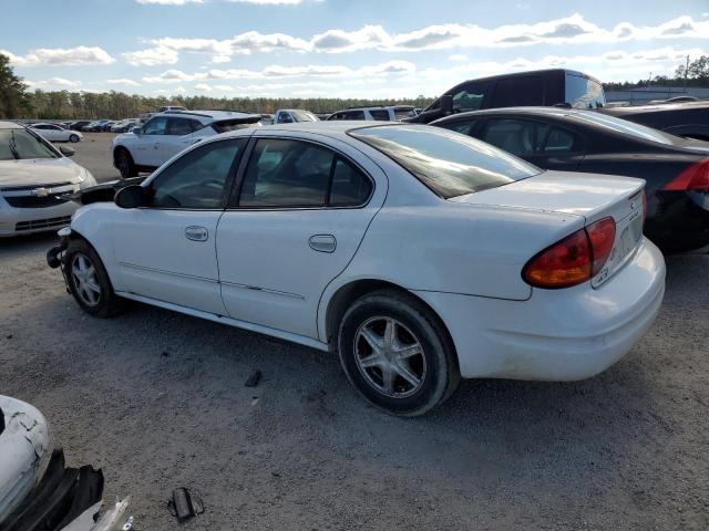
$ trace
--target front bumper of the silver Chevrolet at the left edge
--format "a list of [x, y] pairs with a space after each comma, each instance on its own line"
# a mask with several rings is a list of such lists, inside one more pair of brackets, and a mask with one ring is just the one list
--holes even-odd
[[73, 201], [42, 208], [16, 208], [0, 197], [0, 238], [56, 231], [71, 222], [79, 208]]

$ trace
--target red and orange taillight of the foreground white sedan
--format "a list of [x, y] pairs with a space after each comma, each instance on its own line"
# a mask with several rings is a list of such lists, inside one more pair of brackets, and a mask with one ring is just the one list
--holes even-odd
[[522, 270], [536, 288], [558, 289], [580, 284], [605, 266], [616, 239], [616, 223], [604, 218], [544, 249]]

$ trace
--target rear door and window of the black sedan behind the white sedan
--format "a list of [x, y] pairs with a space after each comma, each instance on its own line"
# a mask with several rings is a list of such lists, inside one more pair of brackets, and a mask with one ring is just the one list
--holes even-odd
[[544, 169], [574, 171], [584, 157], [580, 135], [547, 122], [487, 118], [472, 133]]

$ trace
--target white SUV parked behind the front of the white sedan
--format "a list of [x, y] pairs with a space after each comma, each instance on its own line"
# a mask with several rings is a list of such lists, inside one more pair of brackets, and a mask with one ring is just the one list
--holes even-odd
[[113, 139], [113, 165], [122, 178], [152, 171], [208, 136], [260, 125], [260, 114], [232, 111], [167, 111]]

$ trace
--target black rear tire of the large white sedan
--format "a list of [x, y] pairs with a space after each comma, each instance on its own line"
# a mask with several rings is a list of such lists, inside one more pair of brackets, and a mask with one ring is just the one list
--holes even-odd
[[[418, 346], [422, 351], [405, 358], [403, 371], [402, 360], [395, 353], [378, 353], [387, 350], [382, 345], [389, 323], [394, 323], [389, 344], [393, 337], [397, 345], [391, 350], [403, 352], [411, 347], [414, 350], [410, 352], [415, 352]], [[376, 352], [366, 335], [381, 340], [378, 343], [381, 351]], [[368, 348], [370, 352], [363, 352]], [[350, 306], [340, 323], [338, 351], [345, 374], [357, 391], [369, 403], [393, 415], [423, 415], [446, 400], [460, 384], [455, 350], [441, 322], [415, 298], [394, 290], [367, 294]], [[381, 365], [363, 366], [373, 358], [377, 363], [381, 361]]]

